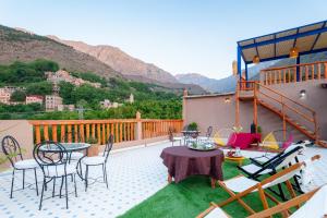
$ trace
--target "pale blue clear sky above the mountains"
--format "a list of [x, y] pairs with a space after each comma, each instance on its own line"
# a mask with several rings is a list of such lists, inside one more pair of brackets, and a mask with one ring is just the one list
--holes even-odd
[[0, 0], [0, 24], [111, 45], [172, 73], [231, 74], [237, 41], [326, 20], [325, 0]]

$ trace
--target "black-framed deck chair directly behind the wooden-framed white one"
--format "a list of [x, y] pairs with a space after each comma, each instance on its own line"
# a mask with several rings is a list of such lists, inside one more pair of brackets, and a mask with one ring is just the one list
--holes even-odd
[[[304, 144], [294, 144], [289, 146], [283, 153], [274, 156], [271, 159], [263, 164], [253, 162], [243, 167], [238, 168], [246, 174], [247, 178], [258, 180], [259, 177], [264, 174], [275, 174], [278, 170], [286, 168], [291, 165], [292, 161], [296, 161], [296, 156], [302, 154], [305, 149]], [[298, 175], [294, 175], [295, 189], [302, 192], [301, 186], [298, 181]], [[279, 195], [282, 199], [286, 199], [281, 185], [278, 184], [279, 193], [272, 191], [276, 195]]]

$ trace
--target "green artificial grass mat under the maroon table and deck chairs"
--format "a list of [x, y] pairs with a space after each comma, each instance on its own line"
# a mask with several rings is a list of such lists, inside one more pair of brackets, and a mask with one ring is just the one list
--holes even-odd
[[[246, 164], [245, 161], [244, 164]], [[230, 179], [240, 174], [237, 164], [223, 162], [223, 179]], [[288, 191], [284, 192], [288, 194]], [[168, 218], [168, 217], [196, 217], [199, 213], [209, 207], [210, 202], [219, 203], [230, 195], [218, 184], [216, 189], [210, 187], [208, 177], [194, 175], [175, 184], [171, 183], [159, 190], [156, 194], [136, 205], [121, 218]], [[278, 198], [278, 197], [277, 197]], [[257, 193], [252, 193], [243, 197], [255, 211], [263, 210], [263, 205]], [[270, 206], [275, 204], [268, 199]], [[246, 217], [250, 214], [238, 203], [233, 202], [223, 210], [231, 217]]]

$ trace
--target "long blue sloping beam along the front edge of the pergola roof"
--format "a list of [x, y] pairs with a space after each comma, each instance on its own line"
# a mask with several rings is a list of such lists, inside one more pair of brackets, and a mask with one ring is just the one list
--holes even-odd
[[247, 46], [241, 46], [241, 48], [242, 49], [254, 48], [254, 47], [258, 47], [258, 46], [276, 44], [276, 43], [280, 43], [280, 41], [286, 41], [286, 40], [290, 40], [290, 39], [294, 39], [294, 38], [311, 36], [311, 35], [320, 34], [320, 33], [325, 33], [325, 32], [327, 32], [327, 27], [315, 29], [315, 31], [310, 31], [310, 32], [305, 32], [305, 33], [298, 33], [295, 35], [284, 36], [284, 37], [280, 37], [280, 38], [276, 38], [276, 39], [266, 40], [266, 41], [254, 43], [254, 44], [251, 44]]

